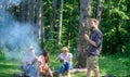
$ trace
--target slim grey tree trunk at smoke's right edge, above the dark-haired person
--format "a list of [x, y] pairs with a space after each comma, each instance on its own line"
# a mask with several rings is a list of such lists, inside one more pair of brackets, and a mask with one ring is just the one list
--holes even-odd
[[38, 38], [40, 40], [41, 48], [43, 48], [44, 25], [43, 25], [43, 1], [42, 0], [37, 0], [37, 25], [38, 25]]

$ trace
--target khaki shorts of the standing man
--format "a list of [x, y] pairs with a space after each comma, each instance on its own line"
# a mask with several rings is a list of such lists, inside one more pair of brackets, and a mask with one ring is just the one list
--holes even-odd
[[99, 56], [88, 56], [87, 57], [87, 68], [98, 69], [99, 68]]

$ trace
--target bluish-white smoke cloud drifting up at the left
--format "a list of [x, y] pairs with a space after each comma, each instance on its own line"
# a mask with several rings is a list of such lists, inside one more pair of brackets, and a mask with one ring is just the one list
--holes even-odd
[[[30, 46], [36, 52], [40, 51], [35, 25], [16, 21], [9, 12], [9, 8], [18, 5], [23, 0], [0, 0], [0, 50], [6, 59], [22, 59]], [[8, 4], [6, 4], [8, 3]]]

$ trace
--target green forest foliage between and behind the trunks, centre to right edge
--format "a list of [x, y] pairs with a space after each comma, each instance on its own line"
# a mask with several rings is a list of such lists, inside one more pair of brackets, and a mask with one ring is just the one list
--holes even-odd
[[[48, 2], [48, 1], [47, 1]], [[49, 2], [51, 3], [51, 2]], [[46, 24], [46, 39], [49, 39], [49, 24], [50, 24], [50, 10], [51, 4], [44, 3], [44, 7], [49, 9], [44, 10], [44, 24]], [[47, 5], [48, 4], [48, 5]], [[56, 23], [54, 29], [54, 39], [57, 38], [57, 25], [58, 25], [58, 7], [60, 1], [57, 2], [56, 10]], [[129, 10], [130, 2], [128, 0], [105, 0], [102, 2], [103, 14], [101, 21], [101, 29], [103, 31], [103, 53], [107, 54], [127, 54], [130, 50], [128, 49], [129, 41]], [[96, 2], [92, 1], [92, 17], [95, 16], [95, 8]], [[72, 27], [69, 25], [69, 12], [72, 11]], [[47, 18], [48, 17], [48, 18]], [[62, 46], [68, 46], [68, 34], [70, 41], [70, 49], [77, 48], [77, 39], [78, 39], [78, 26], [79, 26], [79, 0], [75, 1], [64, 1], [64, 11], [63, 11], [63, 30], [62, 30]], [[70, 27], [68, 31], [68, 27]], [[113, 40], [112, 40], [113, 39]], [[47, 40], [48, 41], [48, 40]], [[48, 44], [47, 42], [44, 42]], [[51, 43], [51, 42], [50, 42]], [[56, 42], [55, 42], [56, 43]], [[46, 46], [47, 48], [48, 46]], [[49, 48], [49, 47], [48, 47]], [[75, 52], [75, 50], [73, 51]]]

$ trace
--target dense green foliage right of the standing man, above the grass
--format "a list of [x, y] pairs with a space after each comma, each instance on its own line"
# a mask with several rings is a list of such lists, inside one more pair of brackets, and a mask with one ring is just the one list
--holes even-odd
[[103, 53], [127, 54], [129, 41], [129, 2], [127, 0], [105, 1], [101, 29], [104, 34]]

